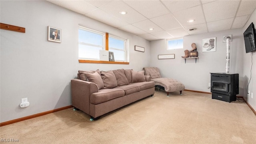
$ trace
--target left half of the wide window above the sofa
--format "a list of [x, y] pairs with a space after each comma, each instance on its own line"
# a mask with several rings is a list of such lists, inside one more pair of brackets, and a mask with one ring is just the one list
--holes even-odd
[[78, 58], [100, 60], [99, 50], [105, 49], [105, 34], [87, 28], [78, 29]]

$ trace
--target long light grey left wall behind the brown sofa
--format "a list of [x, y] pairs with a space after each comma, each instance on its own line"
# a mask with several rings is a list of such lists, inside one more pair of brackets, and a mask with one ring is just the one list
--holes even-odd
[[[147, 40], [50, 2], [0, 1], [0, 14], [2, 23], [26, 28], [26, 33], [0, 30], [0, 122], [70, 106], [70, 80], [78, 70], [149, 66]], [[130, 64], [79, 63], [78, 24], [129, 39]], [[62, 29], [61, 43], [47, 40], [48, 26]], [[30, 106], [20, 108], [21, 98], [28, 98]]]

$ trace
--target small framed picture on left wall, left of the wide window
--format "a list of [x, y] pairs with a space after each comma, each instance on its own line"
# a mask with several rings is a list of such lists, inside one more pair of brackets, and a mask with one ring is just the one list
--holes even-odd
[[61, 42], [61, 29], [48, 26], [48, 40]]

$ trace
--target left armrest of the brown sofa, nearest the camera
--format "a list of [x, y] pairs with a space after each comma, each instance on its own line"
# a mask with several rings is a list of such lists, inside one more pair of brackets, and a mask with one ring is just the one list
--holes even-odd
[[72, 106], [90, 115], [90, 95], [98, 92], [98, 86], [93, 82], [71, 80]]

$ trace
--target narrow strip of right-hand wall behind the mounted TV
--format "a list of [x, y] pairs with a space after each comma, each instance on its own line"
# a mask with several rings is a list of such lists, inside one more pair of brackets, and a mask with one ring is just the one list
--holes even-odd
[[[246, 25], [243, 28], [243, 32], [248, 28], [248, 26], [253, 22], [254, 26], [256, 26], [256, 10], [252, 13], [252, 16], [246, 23]], [[247, 102], [252, 106], [254, 110], [256, 110], [256, 52], [245, 52], [245, 46], [243, 55], [244, 55], [244, 91], [243, 96], [247, 100]], [[252, 65], [253, 63], [253, 65]], [[251, 77], [251, 66], [252, 66], [252, 77]], [[248, 90], [250, 90], [250, 96], [247, 95], [247, 85], [251, 78]], [[251, 98], [251, 93], [253, 93], [253, 98]]]

